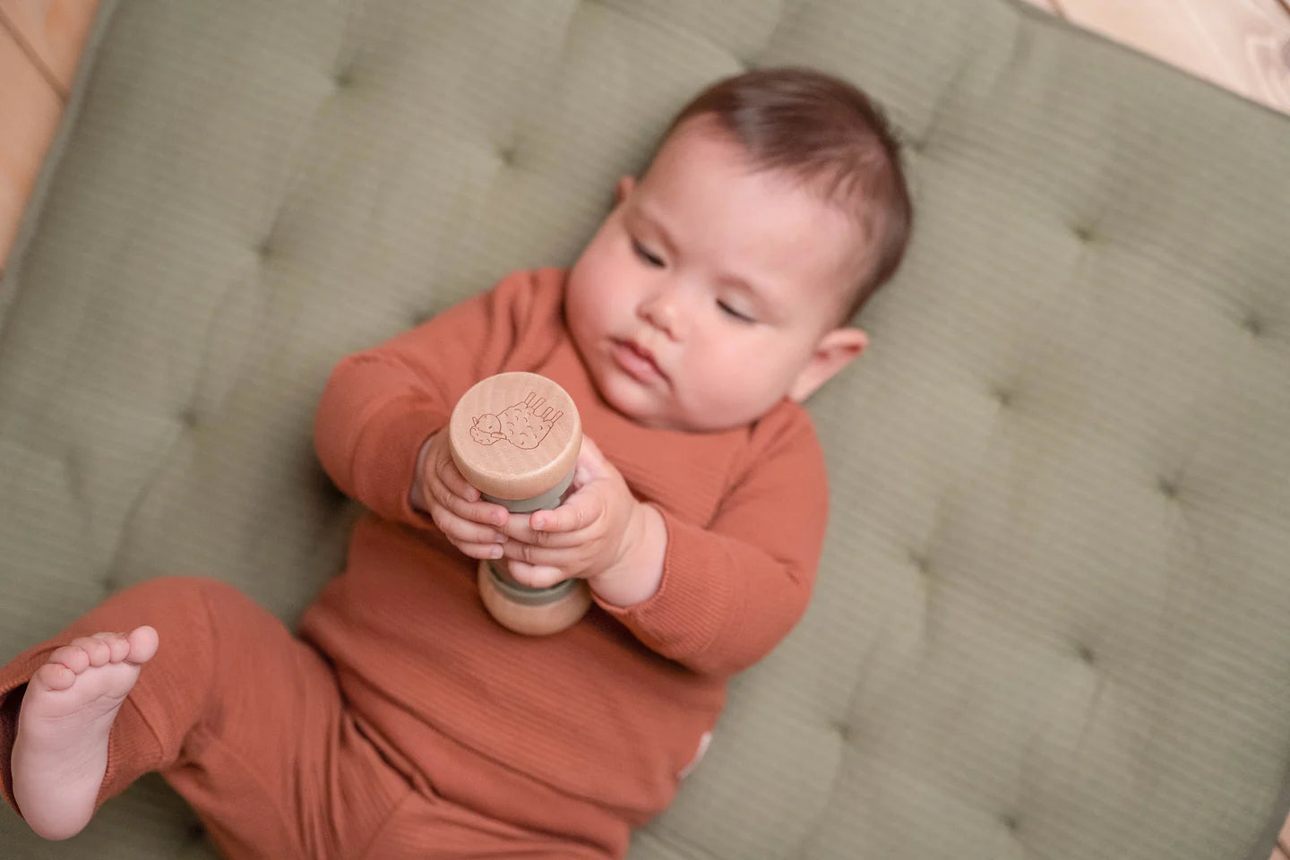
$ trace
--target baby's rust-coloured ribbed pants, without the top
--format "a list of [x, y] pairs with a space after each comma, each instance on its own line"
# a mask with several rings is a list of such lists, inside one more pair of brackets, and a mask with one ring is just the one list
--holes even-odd
[[0, 669], [0, 789], [15, 810], [23, 685], [72, 638], [139, 624], [160, 647], [112, 725], [98, 803], [160, 771], [239, 860], [606, 856], [414, 790], [355, 725], [325, 658], [231, 585], [196, 578], [120, 592]]

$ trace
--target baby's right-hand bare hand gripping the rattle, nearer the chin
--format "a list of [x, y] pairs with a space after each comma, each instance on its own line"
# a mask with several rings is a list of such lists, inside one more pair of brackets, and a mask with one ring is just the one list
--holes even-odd
[[544, 588], [573, 576], [595, 580], [631, 554], [641, 533], [642, 505], [586, 436], [573, 487], [559, 508], [511, 514], [507, 521], [511, 540], [504, 553], [517, 581]]

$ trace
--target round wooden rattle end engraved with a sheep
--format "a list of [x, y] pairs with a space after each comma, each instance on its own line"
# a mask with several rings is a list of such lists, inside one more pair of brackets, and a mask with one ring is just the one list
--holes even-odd
[[448, 433], [462, 476], [516, 512], [555, 507], [543, 496], [569, 486], [582, 447], [582, 419], [569, 393], [531, 373], [475, 383], [457, 401]]

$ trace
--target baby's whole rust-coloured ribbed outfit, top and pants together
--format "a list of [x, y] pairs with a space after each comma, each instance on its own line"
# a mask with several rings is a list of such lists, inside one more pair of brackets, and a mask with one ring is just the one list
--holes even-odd
[[[0, 670], [10, 805], [14, 691], [70, 637], [152, 624], [161, 647], [114, 726], [101, 801], [160, 770], [230, 856], [620, 856], [628, 829], [672, 799], [728, 678], [801, 616], [827, 486], [810, 419], [788, 401], [716, 433], [610, 409], [564, 325], [564, 284], [560, 269], [517, 272], [335, 367], [319, 456], [373, 514], [303, 641], [226, 585], [160, 579]], [[560, 383], [660, 511], [654, 597], [516, 636], [482, 609], [476, 562], [410, 507], [422, 442], [506, 370]]]

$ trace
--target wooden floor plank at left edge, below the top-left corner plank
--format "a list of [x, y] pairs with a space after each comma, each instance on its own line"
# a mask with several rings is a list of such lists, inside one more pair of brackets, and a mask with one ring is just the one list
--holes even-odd
[[10, 32], [0, 26], [0, 266], [54, 137], [62, 102]]

